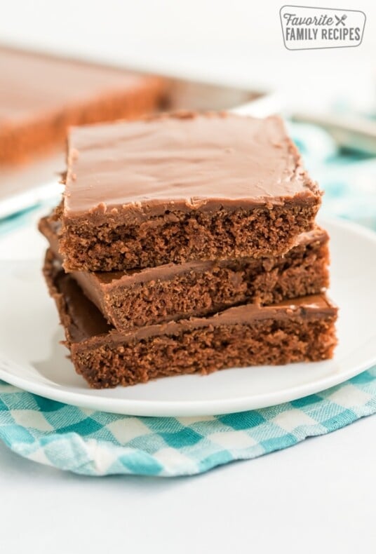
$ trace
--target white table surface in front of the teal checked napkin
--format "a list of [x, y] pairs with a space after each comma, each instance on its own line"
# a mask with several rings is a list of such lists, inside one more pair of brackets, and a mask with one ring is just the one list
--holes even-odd
[[193, 478], [88, 478], [0, 444], [0, 551], [375, 552], [376, 417]]

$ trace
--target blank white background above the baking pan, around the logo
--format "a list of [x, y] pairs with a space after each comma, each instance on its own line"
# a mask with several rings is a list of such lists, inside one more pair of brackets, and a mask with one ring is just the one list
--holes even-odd
[[357, 48], [290, 51], [276, 0], [0, 0], [0, 41], [95, 60], [266, 84], [293, 104], [351, 97], [363, 107], [376, 90], [374, 0], [309, 0], [309, 6], [365, 12]]

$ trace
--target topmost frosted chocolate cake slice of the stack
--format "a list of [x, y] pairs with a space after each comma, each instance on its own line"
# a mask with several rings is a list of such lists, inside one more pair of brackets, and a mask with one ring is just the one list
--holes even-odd
[[60, 252], [68, 271], [281, 255], [320, 203], [276, 116], [83, 126], [69, 135]]

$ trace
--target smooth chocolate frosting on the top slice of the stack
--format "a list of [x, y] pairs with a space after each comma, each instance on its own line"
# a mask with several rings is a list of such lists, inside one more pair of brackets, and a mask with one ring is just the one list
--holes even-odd
[[164, 114], [73, 128], [63, 218], [307, 203], [320, 195], [277, 117]]

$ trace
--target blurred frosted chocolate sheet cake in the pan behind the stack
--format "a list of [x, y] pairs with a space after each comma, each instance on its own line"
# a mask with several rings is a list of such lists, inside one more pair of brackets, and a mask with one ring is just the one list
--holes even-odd
[[0, 163], [63, 144], [68, 126], [154, 112], [166, 81], [0, 48]]

